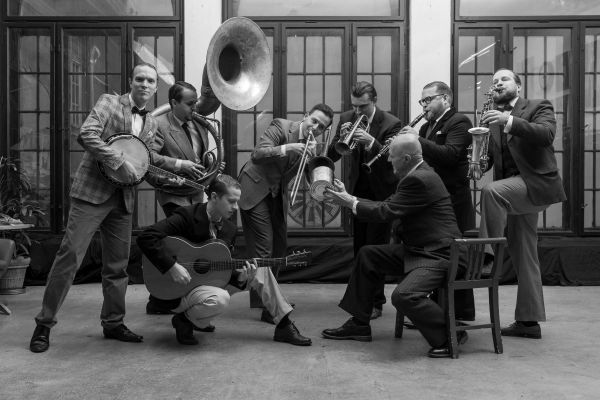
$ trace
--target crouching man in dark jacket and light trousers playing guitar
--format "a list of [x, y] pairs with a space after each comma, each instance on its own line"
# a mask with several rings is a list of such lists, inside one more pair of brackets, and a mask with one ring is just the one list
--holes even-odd
[[[177, 255], [164, 245], [163, 239], [180, 236], [194, 243], [220, 239], [232, 248], [237, 228], [229, 218], [238, 208], [240, 194], [240, 184], [235, 179], [228, 175], [217, 176], [207, 190], [207, 203], [180, 207], [169, 218], [144, 230], [137, 239], [140, 249], [173, 282], [189, 284], [192, 279], [190, 273], [176, 261]], [[311, 340], [302, 336], [290, 321], [292, 306], [281, 294], [270, 268], [256, 268], [255, 263], [246, 262], [243, 268], [232, 270], [229, 282], [222, 286], [200, 285], [181, 298], [160, 300], [175, 312], [172, 325], [179, 343], [198, 344], [193, 331], [214, 331], [211, 320], [227, 307], [230, 294], [252, 287], [277, 324], [273, 339], [296, 346], [310, 346]]]

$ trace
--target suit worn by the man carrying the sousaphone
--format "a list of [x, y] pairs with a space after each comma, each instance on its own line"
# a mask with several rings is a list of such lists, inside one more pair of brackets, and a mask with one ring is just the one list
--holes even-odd
[[[208, 133], [206, 129], [192, 121], [196, 132], [199, 134], [201, 149], [198, 153], [194, 151], [192, 143], [181, 127], [181, 123], [175, 118], [173, 112], [156, 118], [158, 131], [154, 140], [153, 149], [156, 151], [154, 164], [157, 167], [176, 170], [176, 161], [190, 160], [202, 164], [202, 153], [209, 148]], [[164, 180], [150, 177], [150, 182], [158, 189], [156, 199], [169, 216], [177, 206], [189, 206], [202, 201], [203, 192], [190, 187], [174, 187], [165, 183]], [[164, 190], [161, 190], [164, 189]]]

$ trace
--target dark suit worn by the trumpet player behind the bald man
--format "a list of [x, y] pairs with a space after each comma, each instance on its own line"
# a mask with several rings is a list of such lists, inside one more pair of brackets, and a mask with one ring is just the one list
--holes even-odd
[[[327, 157], [334, 162], [342, 156], [335, 150], [335, 144], [339, 141], [341, 127], [346, 122], [353, 123], [356, 120], [354, 111], [346, 111], [340, 115], [340, 122], [331, 145], [327, 150]], [[376, 108], [373, 120], [369, 127], [369, 134], [375, 138], [373, 146], [366, 151], [363, 146], [358, 145], [350, 158], [350, 168], [344, 169], [343, 181], [346, 183], [348, 192], [357, 197], [363, 197], [376, 201], [386, 199], [394, 192], [398, 179], [394, 175], [392, 165], [386, 158], [382, 157], [371, 166], [371, 173], [362, 166], [363, 163], [375, 157], [390, 137], [394, 136], [402, 128], [398, 118], [379, 108]], [[384, 244], [390, 241], [391, 226], [389, 221], [373, 222], [361, 221], [356, 217], [352, 220], [354, 233], [354, 256], [360, 248], [366, 244]], [[376, 296], [376, 307], [381, 308], [385, 303], [383, 287]]]

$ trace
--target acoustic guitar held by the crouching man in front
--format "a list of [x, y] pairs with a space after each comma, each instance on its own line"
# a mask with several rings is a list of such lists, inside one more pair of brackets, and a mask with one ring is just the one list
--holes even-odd
[[[231, 271], [245, 265], [246, 260], [232, 259], [229, 247], [219, 239], [194, 244], [177, 236], [167, 236], [163, 241], [169, 253], [175, 254], [177, 262], [188, 270], [192, 280], [187, 285], [175, 283], [169, 274], [161, 273], [144, 256], [142, 258], [144, 283], [148, 291], [159, 299], [171, 300], [183, 297], [200, 285], [225, 287], [231, 278]], [[302, 251], [283, 258], [259, 258], [256, 264], [257, 267], [300, 268], [308, 265], [310, 255], [309, 251]]]

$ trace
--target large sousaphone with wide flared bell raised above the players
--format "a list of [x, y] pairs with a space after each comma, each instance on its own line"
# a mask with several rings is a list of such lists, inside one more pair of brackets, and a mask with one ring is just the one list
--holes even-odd
[[[219, 26], [208, 46], [200, 98], [192, 114], [194, 121], [205, 127], [215, 142], [215, 148], [207, 150], [202, 157], [206, 171], [198, 183], [208, 186], [225, 168], [221, 124], [207, 115], [217, 111], [221, 103], [238, 111], [254, 107], [267, 92], [271, 73], [271, 50], [256, 23], [245, 17], [234, 17]], [[167, 103], [151, 114], [157, 117], [170, 110]], [[172, 192], [181, 194], [182, 190]]]

